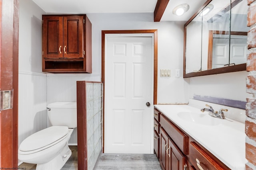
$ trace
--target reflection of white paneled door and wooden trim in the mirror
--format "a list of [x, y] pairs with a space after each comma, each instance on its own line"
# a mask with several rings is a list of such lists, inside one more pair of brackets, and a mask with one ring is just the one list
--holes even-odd
[[247, 32], [209, 31], [208, 69], [246, 63], [247, 52]]

